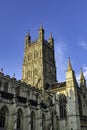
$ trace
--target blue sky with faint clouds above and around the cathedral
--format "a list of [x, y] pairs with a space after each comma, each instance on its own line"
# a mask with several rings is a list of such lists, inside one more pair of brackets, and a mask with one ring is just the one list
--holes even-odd
[[68, 57], [79, 77], [87, 78], [87, 0], [3, 0], [0, 1], [0, 68], [21, 79], [25, 35], [38, 38], [43, 24], [45, 39], [55, 40], [58, 81], [65, 80]]

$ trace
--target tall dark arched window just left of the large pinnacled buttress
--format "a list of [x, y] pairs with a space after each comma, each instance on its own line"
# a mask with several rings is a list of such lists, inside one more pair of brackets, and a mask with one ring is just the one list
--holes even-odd
[[66, 96], [61, 94], [59, 96], [59, 103], [60, 103], [60, 118], [66, 117]]

